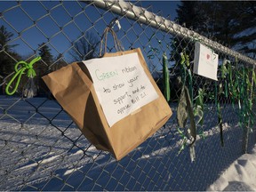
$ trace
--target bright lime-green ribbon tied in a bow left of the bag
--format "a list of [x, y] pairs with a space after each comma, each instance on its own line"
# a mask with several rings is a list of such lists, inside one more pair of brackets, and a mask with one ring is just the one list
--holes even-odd
[[[36, 57], [34, 60], [31, 60], [29, 63], [27, 63], [27, 62], [24, 61], [24, 60], [21, 60], [20, 62], [16, 63], [16, 65], [15, 65], [15, 67], [14, 67], [14, 68], [15, 68], [15, 74], [14, 74], [14, 76], [12, 76], [11, 81], [7, 84], [7, 86], [6, 86], [6, 88], [5, 88], [6, 94], [12, 95], [12, 94], [14, 94], [14, 92], [17, 91], [18, 86], [19, 86], [19, 84], [20, 84], [21, 76], [22, 76], [23, 74], [25, 74], [25, 71], [26, 71], [26, 70], [27, 70], [27, 76], [28, 76], [28, 78], [30, 78], [30, 77], [33, 78], [33, 77], [36, 76], [36, 71], [35, 71], [35, 69], [33, 68], [33, 65], [34, 65], [38, 60], [41, 60], [41, 57]], [[21, 68], [20, 68], [20, 66], [21, 66]], [[11, 86], [11, 84], [13, 83], [13, 81], [14, 81], [17, 77], [18, 77], [17, 82], [16, 82], [16, 84], [15, 84], [15, 86], [14, 86], [14, 89], [13, 89], [12, 92], [11, 92], [11, 91], [10, 91], [10, 86]]]

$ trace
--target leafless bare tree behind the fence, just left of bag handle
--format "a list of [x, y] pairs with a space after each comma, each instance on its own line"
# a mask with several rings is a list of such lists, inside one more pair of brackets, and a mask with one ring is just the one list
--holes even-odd
[[90, 60], [99, 55], [100, 40], [90, 32], [86, 32], [81, 36], [78, 41], [73, 45], [73, 49], [69, 52], [72, 59]]

